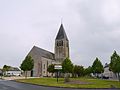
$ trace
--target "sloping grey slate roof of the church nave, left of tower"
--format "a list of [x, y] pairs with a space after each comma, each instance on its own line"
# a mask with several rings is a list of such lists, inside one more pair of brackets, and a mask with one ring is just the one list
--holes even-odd
[[34, 46], [28, 55], [33, 55], [38, 58], [41, 56], [41, 57], [45, 57], [52, 60], [54, 60], [55, 58], [54, 53], [44, 50], [42, 48], [39, 48], [37, 46]]

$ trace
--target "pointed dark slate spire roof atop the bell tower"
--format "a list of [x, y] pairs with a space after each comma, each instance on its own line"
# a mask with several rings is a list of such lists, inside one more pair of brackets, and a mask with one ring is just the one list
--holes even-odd
[[59, 39], [68, 40], [67, 35], [65, 33], [65, 30], [64, 30], [64, 27], [63, 27], [63, 24], [61, 24], [61, 26], [59, 28], [59, 32], [58, 32], [57, 37], [56, 37], [56, 40], [59, 40]]

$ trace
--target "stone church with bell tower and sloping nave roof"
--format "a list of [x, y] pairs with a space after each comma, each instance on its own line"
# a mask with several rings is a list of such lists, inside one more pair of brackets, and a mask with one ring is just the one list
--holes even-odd
[[63, 24], [60, 25], [55, 38], [54, 53], [34, 46], [28, 55], [34, 60], [34, 68], [29, 72], [28, 76], [51, 76], [51, 73], [47, 72], [48, 66], [51, 64], [61, 64], [65, 58], [69, 57], [69, 40]]

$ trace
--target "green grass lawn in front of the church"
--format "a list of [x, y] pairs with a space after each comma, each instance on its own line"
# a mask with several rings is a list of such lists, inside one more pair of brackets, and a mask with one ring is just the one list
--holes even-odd
[[71, 81], [86, 82], [86, 84], [78, 83], [64, 83], [64, 78], [59, 78], [57, 83], [56, 78], [31, 78], [16, 80], [18, 82], [32, 83], [45, 86], [57, 86], [57, 87], [71, 87], [71, 88], [111, 88], [113, 85], [116, 88], [120, 88], [120, 82], [110, 80], [100, 80], [93, 78], [70, 78]]

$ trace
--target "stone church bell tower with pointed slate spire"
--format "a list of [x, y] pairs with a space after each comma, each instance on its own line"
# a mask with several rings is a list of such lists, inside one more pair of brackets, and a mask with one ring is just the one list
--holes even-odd
[[69, 57], [69, 40], [61, 24], [55, 39], [55, 60], [62, 63], [67, 57]]

